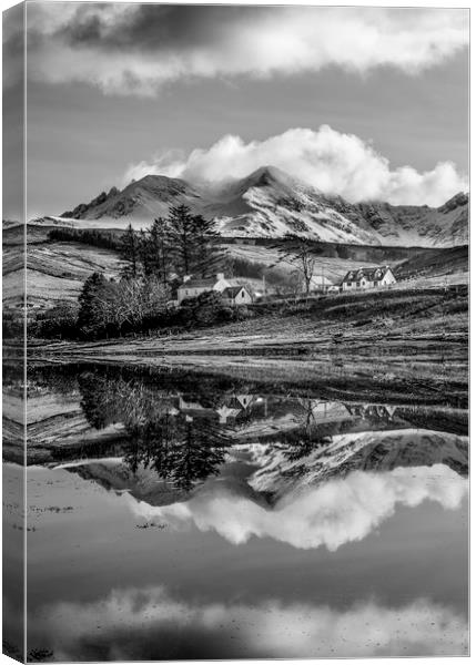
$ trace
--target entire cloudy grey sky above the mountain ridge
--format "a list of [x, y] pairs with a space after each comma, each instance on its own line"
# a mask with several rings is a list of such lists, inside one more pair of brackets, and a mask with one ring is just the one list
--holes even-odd
[[36, 1], [26, 22], [28, 217], [148, 173], [216, 181], [265, 164], [353, 202], [467, 190], [467, 10]]

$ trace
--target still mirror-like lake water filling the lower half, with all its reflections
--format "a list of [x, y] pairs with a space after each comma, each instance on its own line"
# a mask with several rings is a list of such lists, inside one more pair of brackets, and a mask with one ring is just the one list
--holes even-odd
[[467, 654], [466, 411], [104, 367], [28, 390], [30, 659]]

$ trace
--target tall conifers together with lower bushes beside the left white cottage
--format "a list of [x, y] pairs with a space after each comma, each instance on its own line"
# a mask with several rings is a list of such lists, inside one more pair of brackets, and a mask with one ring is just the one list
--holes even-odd
[[[120, 238], [123, 262], [119, 282], [94, 273], [79, 297], [78, 326], [88, 338], [144, 332], [166, 325], [200, 325], [196, 307], [189, 307], [181, 320], [168, 301], [184, 275], [207, 277], [223, 265], [224, 254], [213, 222], [193, 215], [185, 205], [170, 208], [148, 231], [129, 225]], [[222, 304], [203, 303], [204, 323], [219, 316]], [[223, 315], [223, 318], [225, 316]], [[179, 319], [179, 320], [178, 320]]]

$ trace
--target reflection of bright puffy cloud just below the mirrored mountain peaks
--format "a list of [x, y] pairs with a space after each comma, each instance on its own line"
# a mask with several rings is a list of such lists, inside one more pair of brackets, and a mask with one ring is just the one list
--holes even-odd
[[234, 544], [255, 535], [300, 549], [325, 545], [336, 550], [368, 535], [398, 504], [416, 507], [429, 500], [445, 509], [458, 508], [468, 481], [444, 464], [397, 468], [385, 473], [354, 471], [305, 493], [288, 494], [273, 509], [220, 484], [214, 487], [185, 503], [156, 508], [133, 501], [131, 505], [146, 519], [159, 519], [175, 529], [195, 524], [201, 531], [216, 531]]

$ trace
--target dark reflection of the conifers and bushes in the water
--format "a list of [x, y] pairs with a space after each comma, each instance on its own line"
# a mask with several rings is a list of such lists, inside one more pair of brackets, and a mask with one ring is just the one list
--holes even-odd
[[184, 491], [219, 473], [229, 446], [219, 422], [192, 419], [174, 407], [174, 396], [133, 380], [84, 376], [80, 388], [81, 406], [92, 427], [123, 422], [129, 434], [123, 459], [133, 473], [153, 469]]

